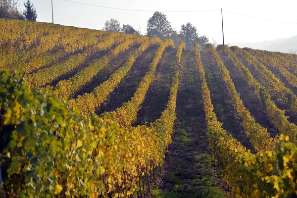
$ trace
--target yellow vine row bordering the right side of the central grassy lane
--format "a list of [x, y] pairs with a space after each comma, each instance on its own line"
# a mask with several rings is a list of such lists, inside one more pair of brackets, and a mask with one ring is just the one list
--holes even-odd
[[[283, 143], [276, 152], [254, 155], [228, 135], [213, 112], [197, 43], [195, 51], [209, 145], [225, 180], [231, 185], [232, 193], [242, 198], [296, 195], [297, 185], [293, 178], [297, 177], [297, 145]], [[280, 136], [280, 139], [289, 138]]]

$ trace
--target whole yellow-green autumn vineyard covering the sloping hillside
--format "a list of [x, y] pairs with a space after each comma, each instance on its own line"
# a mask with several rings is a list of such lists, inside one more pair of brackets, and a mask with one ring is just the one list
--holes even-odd
[[297, 55], [0, 19], [0, 197], [295, 198]]

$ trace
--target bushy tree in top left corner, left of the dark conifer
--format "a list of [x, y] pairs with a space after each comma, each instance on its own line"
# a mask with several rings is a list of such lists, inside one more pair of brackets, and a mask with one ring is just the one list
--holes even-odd
[[0, 0], [0, 18], [23, 19], [17, 0]]

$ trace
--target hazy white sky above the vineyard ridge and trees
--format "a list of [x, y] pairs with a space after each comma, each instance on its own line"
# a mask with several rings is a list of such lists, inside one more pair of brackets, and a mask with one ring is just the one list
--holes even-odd
[[[18, 0], [23, 9], [23, 2]], [[187, 11], [223, 9], [225, 43], [254, 43], [263, 40], [289, 38], [297, 35], [297, 0], [74, 0], [100, 6], [155, 10]], [[38, 21], [51, 22], [51, 0], [31, 0], [37, 10]], [[263, 20], [233, 14], [226, 11], [251, 16], [288, 21], [296, 24]], [[164, 12], [165, 13], [165, 12]], [[130, 24], [135, 29], [141, 27], [146, 33], [147, 20], [153, 12], [125, 11], [100, 8], [53, 0], [54, 23], [101, 30], [105, 21], [115, 18], [121, 24]], [[206, 35], [222, 43], [221, 12], [181, 12], [165, 13], [172, 27], [179, 31], [182, 24], [192, 23], [199, 35]]]

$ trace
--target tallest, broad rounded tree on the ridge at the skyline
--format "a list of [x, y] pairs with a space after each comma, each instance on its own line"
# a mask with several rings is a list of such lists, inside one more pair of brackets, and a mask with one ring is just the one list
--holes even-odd
[[166, 39], [170, 38], [173, 32], [171, 23], [167, 20], [167, 16], [165, 14], [162, 14], [161, 12], [154, 12], [152, 17], [148, 19], [148, 37]]

